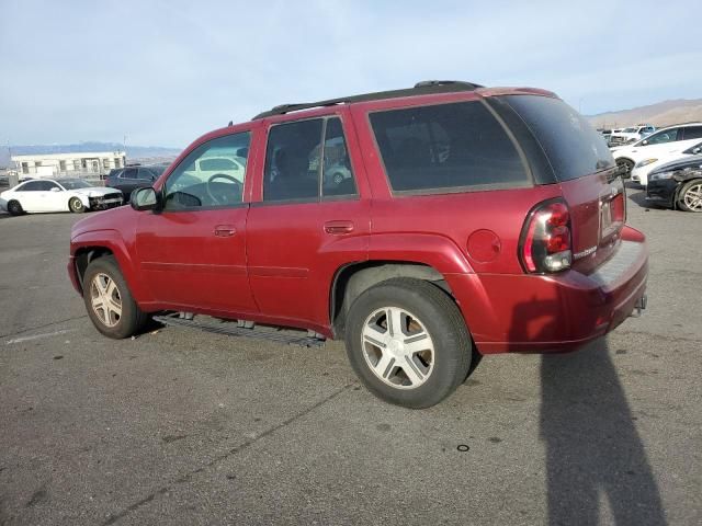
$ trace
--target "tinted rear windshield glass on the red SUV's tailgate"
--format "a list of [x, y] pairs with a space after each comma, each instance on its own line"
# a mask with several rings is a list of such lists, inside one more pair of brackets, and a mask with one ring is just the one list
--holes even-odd
[[604, 139], [561, 99], [507, 95], [543, 148], [559, 181], [569, 181], [614, 167]]

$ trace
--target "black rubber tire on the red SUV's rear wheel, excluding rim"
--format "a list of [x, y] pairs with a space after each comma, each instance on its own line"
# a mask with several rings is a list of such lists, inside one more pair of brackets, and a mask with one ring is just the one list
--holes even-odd
[[[381, 379], [373, 370], [371, 354], [380, 353], [384, 356], [385, 352], [365, 341], [363, 331], [366, 322], [377, 323], [370, 320], [376, 319], [377, 312], [385, 308], [405, 310], [406, 313], [412, 315], [407, 316], [403, 324], [411, 324], [414, 321], [410, 320], [417, 320], [419, 332], [426, 331], [430, 338], [429, 342], [433, 346], [430, 355], [431, 366], [428, 367], [422, 382], [418, 382], [418, 387], [411, 387], [412, 380], [409, 377], [409, 385], [396, 384], [395, 387], [389, 385], [387, 379]], [[382, 315], [380, 316], [382, 320]], [[387, 325], [387, 321], [385, 323]], [[386, 332], [390, 334], [393, 330], [387, 328]], [[405, 333], [401, 338], [411, 339], [411, 334]], [[389, 350], [390, 345], [396, 343], [390, 341], [384, 348]], [[428, 282], [406, 277], [380, 283], [355, 299], [347, 319], [346, 347], [353, 370], [373, 395], [389, 403], [410, 409], [435, 405], [463, 384], [471, 369], [473, 350], [461, 311], [449, 295]], [[390, 354], [394, 352], [388, 351]], [[380, 366], [380, 359], [377, 357], [375, 366]], [[389, 358], [385, 368], [385, 373], [390, 371], [387, 376], [393, 375], [392, 371], [395, 370], [395, 381], [401, 381], [403, 363], [401, 358]], [[421, 365], [426, 366], [426, 363], [422, 361]]]

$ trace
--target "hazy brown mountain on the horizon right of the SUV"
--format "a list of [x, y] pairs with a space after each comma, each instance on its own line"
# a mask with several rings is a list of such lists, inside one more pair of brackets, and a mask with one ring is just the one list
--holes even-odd
[[596, 128], [622, 128], [639, 123], [663, 127], [692, 121], [702, 122], [702, 99], [664, 101], [632, 110], [588, 115], [587, 118]]

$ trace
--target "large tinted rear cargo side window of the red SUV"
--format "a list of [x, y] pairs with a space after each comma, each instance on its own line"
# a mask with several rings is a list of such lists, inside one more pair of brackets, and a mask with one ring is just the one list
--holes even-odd
[[480, 102], [376, 112], [370, 119], [394, 192], [530, 184], [514, 144]]

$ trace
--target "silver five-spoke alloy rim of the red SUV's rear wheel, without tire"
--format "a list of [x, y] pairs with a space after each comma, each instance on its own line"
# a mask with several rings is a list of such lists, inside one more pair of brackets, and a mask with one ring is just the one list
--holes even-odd
[[434, 365], [434, 344], [421, 321], [399, 307], [377, 309], [365, 320], [363, 357], [388, 386], [414, 389], [427, 381]]

